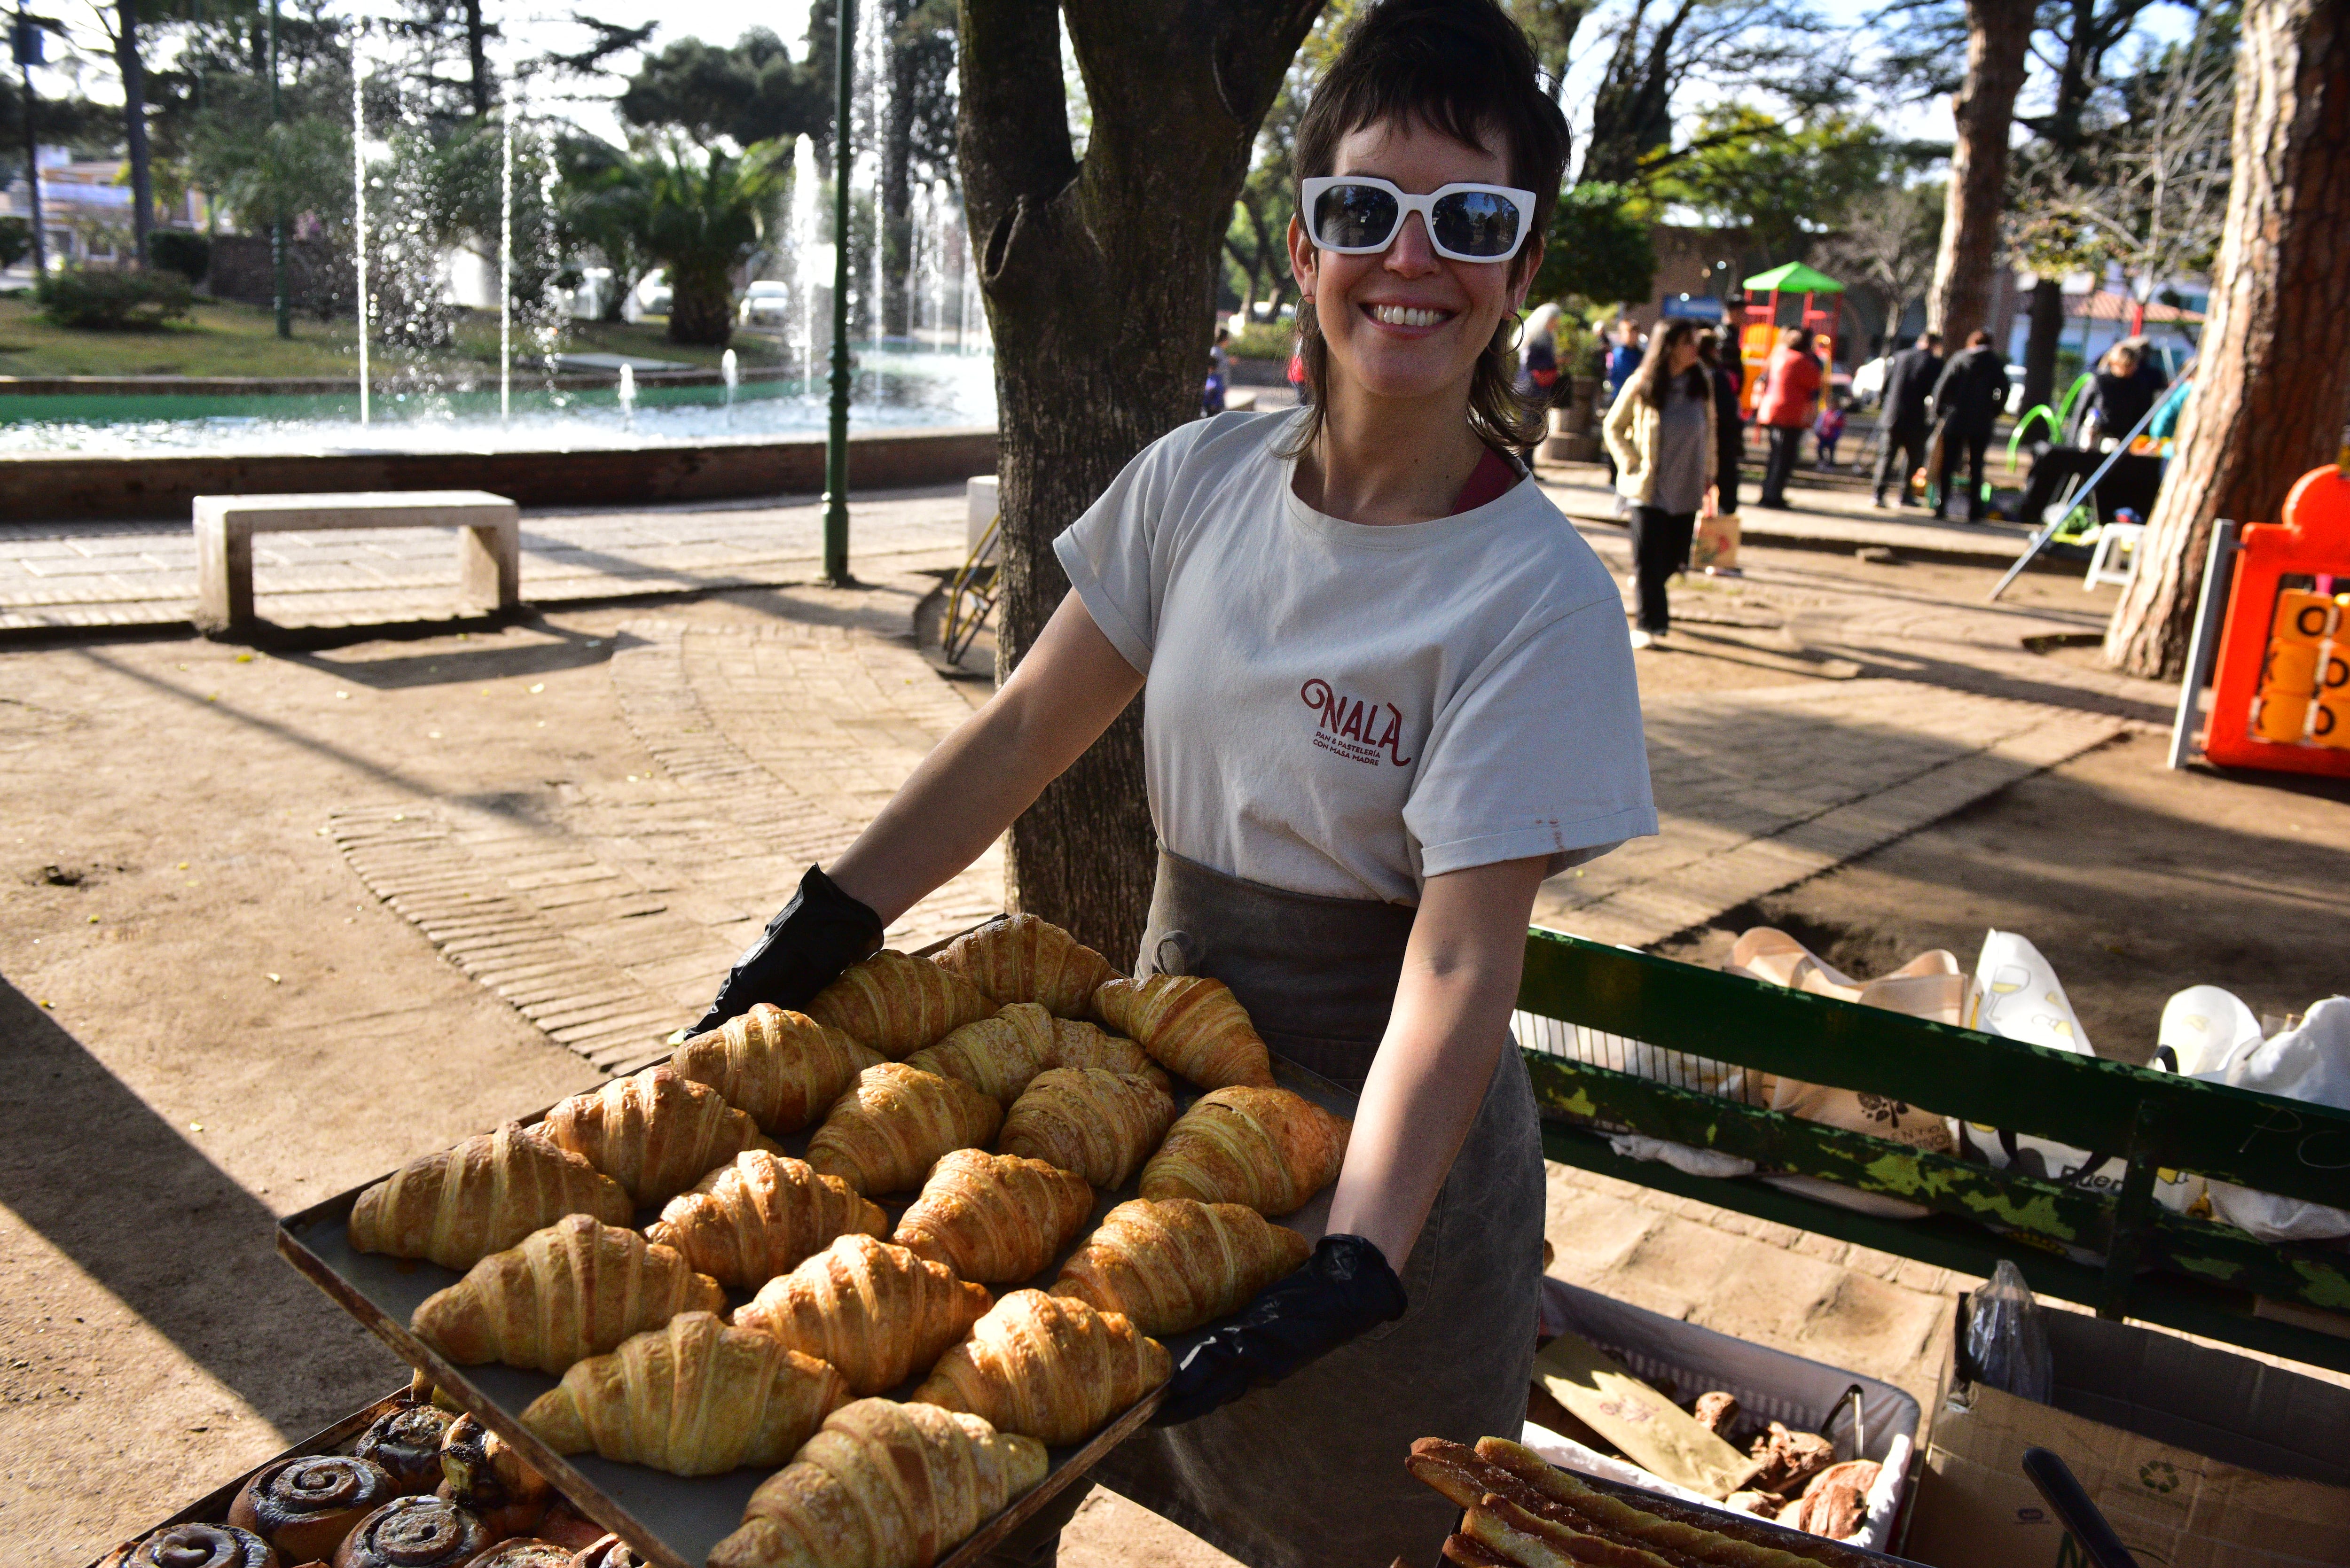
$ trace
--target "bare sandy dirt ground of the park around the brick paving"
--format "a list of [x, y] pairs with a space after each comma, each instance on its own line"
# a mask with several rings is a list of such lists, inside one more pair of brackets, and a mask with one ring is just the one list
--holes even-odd
[[[1798, 567], [1922, 604], [1988, 585]], [[663, 614], [898, 632], [916, 592]], [[2026, 578], [2019, 602], [2042, 595], [2094, 604], [2077, 578]], [[82, 1563], [404, 1378], [273, 1258], [273, 1218], [597, 1074], [371, 898], [324, 818], [414, 795], [529, 813], [623, 780], [644, 752], [602, 665], [634, 614], [296, 654], [0, 649], [0, 1540], [16, 1561]], [[1892, 672], [1784, 625], [1692, 623], [1676, 644], [1640, 656], [1647, 691]], [[2077, 757], [1673, 954], [1716, 961], [1737, 926], [1772, 922], [1875, 973], [1934, 945], [1972, 964], [1986, 926], [2023, 931], [2089, 1037], [2131, 1060], [2183, 985], [2256, 1011], [2341, 990], [2350, 790], [2169, 773], [2160, 750], [2138, 733]], [[1104, 1497], [1065, 1561], [1210, 1556]]]

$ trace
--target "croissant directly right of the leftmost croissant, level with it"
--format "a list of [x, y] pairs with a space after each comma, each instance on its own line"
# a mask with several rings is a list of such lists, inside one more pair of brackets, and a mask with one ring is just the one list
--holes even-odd
[[754, 1291], [846, 1232], [888, 1234], [888, 1215], [837, 1175], [766, 1150], [747, 1150], [644, 1227], [721, 1286]]

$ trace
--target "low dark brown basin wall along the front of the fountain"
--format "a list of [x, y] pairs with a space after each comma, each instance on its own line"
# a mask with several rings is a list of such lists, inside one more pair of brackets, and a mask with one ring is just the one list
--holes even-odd
[[[853, 489], [961, 484], [996, 470], [996, 433], [874, 430], [848, 437]], [[519, 451], [167, 451], [0, 456], [0, 522], [186, 520], [195, 496], [486, 489], [519, 505], [651, 505], [808, 496], [822, 437]]]

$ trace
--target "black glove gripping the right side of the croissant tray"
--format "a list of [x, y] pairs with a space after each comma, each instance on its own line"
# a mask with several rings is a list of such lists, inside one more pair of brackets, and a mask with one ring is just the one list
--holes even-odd
[[1405, 1309], [1403, 1281], [1363, 1237], [1323, 1237], [1307, 1265], [1217, 1324], [1168, 1380], [1154, 1427], [1180, 1427], [1281, 1382]]

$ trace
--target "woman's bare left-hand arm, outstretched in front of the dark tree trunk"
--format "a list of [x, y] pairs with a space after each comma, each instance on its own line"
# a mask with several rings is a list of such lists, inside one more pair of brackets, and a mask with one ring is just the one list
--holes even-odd
[[1072, 592], [1003, 689], [938, 743], [827, 870], [888, 926], [980, 858], [1100, 738], [1142, 675]]

